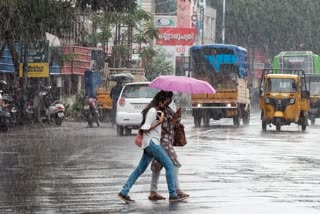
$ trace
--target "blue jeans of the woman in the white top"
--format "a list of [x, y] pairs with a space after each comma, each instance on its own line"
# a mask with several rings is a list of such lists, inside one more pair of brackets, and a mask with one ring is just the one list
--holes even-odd
[[152, 141], [150, 141], [149, 146], [144, 149], [139, 165], [131, 173], [127, 182], [123, 186], [121, 190], [122, 194], [128, 195], [129, 190], [131, 189], [133, 184], [136, 182], [139, 176], [144, 173], [153, 158], [159, 161], [166, 169], [166, 179], [170, 197], [177, 196], [174, 165], [168, 157], [167, 153], [162, 149], [162, 147], [160, 145], [154, 144]]

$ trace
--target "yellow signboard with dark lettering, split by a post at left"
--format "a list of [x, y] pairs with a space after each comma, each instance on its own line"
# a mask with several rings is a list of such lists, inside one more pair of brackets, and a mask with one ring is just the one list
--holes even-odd
[[[19, 77], [23, 75], [23, 63], [20, 63], [19, 67]], [[49, 63], [46, 62], [29, 62], [28, 63], [28, 77], [39, 78], [39, 77], [49, 77]]]

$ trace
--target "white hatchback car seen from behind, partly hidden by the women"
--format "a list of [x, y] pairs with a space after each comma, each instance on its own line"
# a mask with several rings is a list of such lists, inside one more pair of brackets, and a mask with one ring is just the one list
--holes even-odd
[[159, 91], [149, 87], [150, 82], [127, 83], [123, 86], [117, 101], [117, 134], [131, 134], [132, 129], [139, 129], [142, 122], [142, 110], [151, 102]]

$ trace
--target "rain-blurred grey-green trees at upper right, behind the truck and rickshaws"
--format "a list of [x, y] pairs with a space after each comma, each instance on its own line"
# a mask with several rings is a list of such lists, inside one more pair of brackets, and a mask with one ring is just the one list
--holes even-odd
[[[217, 9], [217, 42], [221, 41], [222, 1]], [[244, 47], [262, 47], [269, 55], [283, 50], [319, 52], [317, 25], [320, 5], [309, 0], [227, 0], [226, 42]]]

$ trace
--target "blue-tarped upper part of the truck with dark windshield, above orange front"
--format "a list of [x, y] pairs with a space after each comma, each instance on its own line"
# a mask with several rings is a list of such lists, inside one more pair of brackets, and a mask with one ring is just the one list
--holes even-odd
[[248, 75], [247, 50], [228, 44], [190, 48], [192, 77], [208, 81], [217, 89], [235, 88], [237, 78]]

